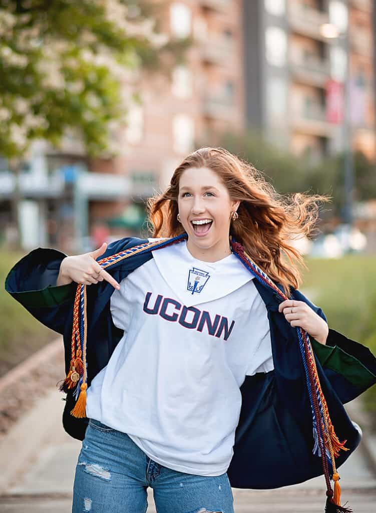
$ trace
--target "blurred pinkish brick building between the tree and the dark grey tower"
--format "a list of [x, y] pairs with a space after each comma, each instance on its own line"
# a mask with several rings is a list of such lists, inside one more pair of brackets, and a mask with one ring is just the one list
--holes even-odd
[[[136, 77], [142, 105], [129, 111], [120, 144], [125, 155], [106, 167], [130, 173], [138, 182], [164, 188], [175, 167], [196, 146], [215, 142], [215, 134], [245, 126], [244, 39], [242, 0], [165, 2], [162, 32], [191, 37], [185, 63], [167, 76]], [[103, 163], [97, 162], [97, 169]], [[108, 215], [120, 206], [93, 206]]]

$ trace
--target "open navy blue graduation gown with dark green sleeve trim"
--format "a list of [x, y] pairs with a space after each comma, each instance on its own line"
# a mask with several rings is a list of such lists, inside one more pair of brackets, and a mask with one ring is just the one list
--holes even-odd
[[[147, 241], [137, 238], [115, 241], [100, 259], [143, 242]], [[56, 249], [34, 249], [10, 270], [5, 288], [38, 321], [63, 334], [67, 373], [77, 284], [56, 287], [60, 264], [66, 256]], [[151, 251], [132, 255], [107, 271], [120, 283], [151, 258]], [[233, 487], [268, 489], [300, 483], [322, 475], [323, 471], [321, 459], [312, 454], [311, 408], [296, 328], [278, 311], [282, 301], [278, 294], [257, 280], [254, 284], [268, 312], [274, 369], [247, 376], [241, 386], [242, 408], [227, 473]], [[88, 385], [107, 365], [123, 336], [123, 331], [112, 322], [109, 300], [113, 291], [106, 281], [87, 287]], [[292, 290], [292, 299], [306, 302], [326, 321], [323, 311], [299, 290]], [[368, 348], [332, 328], [326, 345], [314, 339], [311, 343], [335, 432], [341, 441], [347, 440], [346, 447], [350, 449], [341, 451], [336, 460], [339, 467], [361, 438], [343, 404], [376, 383], [376, 359]], [[74, 398], [69, 392], [63, 412], [64, 428], [72, 437], [83, 440], [88, 419], [70, 415], [73, 406]]]

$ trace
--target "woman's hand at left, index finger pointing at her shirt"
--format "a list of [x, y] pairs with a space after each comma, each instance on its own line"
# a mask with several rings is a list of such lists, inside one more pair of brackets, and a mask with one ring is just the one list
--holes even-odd
[[61, 265], [59, 275], [57, 277], [57, 285], [66, 285], [76, 282], [83, 285], [91, 285], [92, 283], [102, 282], [106, 280], [114, 288], [120, 289], [120, 285], [112, 278], [105, 269], [103, 269], [96, 259], [100, 257], [107, 249], [107, 243], [94, 251], [89, 251], [82, 255], [73, 255], [66, 257]]

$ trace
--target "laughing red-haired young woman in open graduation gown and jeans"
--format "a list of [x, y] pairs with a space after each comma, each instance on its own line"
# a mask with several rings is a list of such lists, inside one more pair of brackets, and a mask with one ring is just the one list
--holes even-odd
[[335, 465], [360, 433], [342, 405], [376, 382], [376, 359], [297, 290], [289, 237], [326, 200], [283, 198], [201, 148], [149, 200], [152, 238], [38, 248], [10, 271], [6, 289], [64, 334], [64, 426], [83, 439], [74, 513], [145, 513], [148, 486], [159, 513], [232, 513], [231, 485], [323, 473], [327, 511], [345, 510]]

